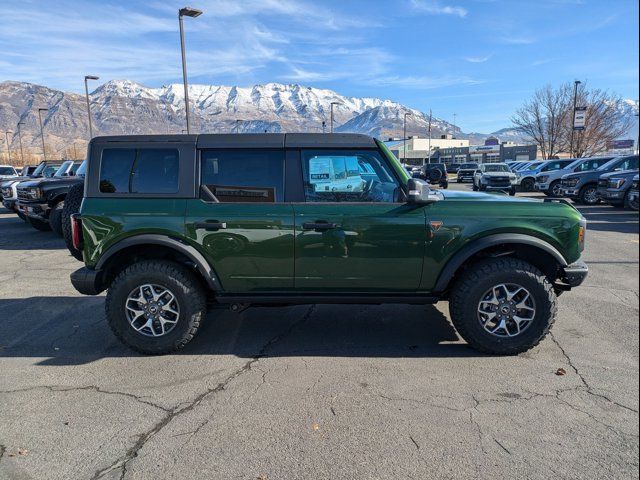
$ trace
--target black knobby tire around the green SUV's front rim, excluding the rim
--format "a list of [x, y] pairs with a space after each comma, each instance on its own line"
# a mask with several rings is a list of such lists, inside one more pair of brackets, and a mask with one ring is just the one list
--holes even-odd
[[[482, 295], [501, 283], [526, 288], [536, 304], [532, 323], [514, 337], [497, 337], [481, 325], [477, 309]], [[517, 355], [535, 347], [553, 326], [557, 298], [547, 277], [533, 265], [515, 258], [482, 260], [464, 271], [449, 298], [451, 319], [460, 336], [476, 350], [494, 355]]]

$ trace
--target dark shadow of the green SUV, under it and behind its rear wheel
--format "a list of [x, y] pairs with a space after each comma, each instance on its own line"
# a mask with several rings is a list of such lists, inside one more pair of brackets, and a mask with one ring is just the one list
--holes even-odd
[[[141, 356], [122, 345], [104, 318], [104, 297], [0, 300], [0, 357], [39, 365], [82, 365]], [[306, 305], [214, 309], [176, 355], [252, 357], [478, 357], [434, 306]]]

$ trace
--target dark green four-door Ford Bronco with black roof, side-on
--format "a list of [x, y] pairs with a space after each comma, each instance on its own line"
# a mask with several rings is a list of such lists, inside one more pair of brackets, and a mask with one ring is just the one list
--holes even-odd
[[587, 275], [564, 201], [432, 190], [353, 134], [98, 137], [72, 235], [75, 288], [107, 290], [131, 348], [184, 347], [207, 307], [448, 300], [473, 347], [517, 354]]

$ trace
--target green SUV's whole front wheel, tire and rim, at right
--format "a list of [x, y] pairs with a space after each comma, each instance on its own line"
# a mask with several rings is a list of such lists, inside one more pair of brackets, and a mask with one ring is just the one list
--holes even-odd
[[453, 287], [449, 309], [453, 325], [471, 347], [516, 355], [547, 335], [556, 319], [556, 300], [540, 270], [504, 257], [466, 270]]

